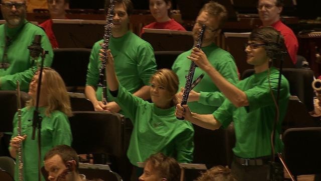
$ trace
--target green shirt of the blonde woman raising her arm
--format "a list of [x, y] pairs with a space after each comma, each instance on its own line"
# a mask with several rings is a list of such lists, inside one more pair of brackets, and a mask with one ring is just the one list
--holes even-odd
[[132, 120], [134, 128], [127, 156], [133, 165], [145, 161], [151, 154], [162, 152], [180, 163], [193, 159], [193, 135], [191, 123], [177, 120], [175, 107], [159, 109], [135, 97], [122, 86], [119, 87], [116, 102]]

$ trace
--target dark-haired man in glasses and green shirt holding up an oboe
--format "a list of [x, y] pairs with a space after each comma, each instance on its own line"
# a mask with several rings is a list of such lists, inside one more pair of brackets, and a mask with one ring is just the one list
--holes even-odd
[[[278, 41], [276, 41], [279, 39]], [[271, 158], [271, 133], [277, 117], [274, 148], [281, 152], [283, 143], [279, 138], [281, 123], [289, 99], [289, 83], [281, 78], [280, 96], [276, 101], [279, 71], [270, 66], [273, 58], [280, 59], [278, 52], [283, 37], [272, 27], [262, 27], [250, 35], [246, 46], [247, 63], [254, 65], [255, 74], [233, 85], [213, 67], [201, 49], [193, 48], [188, 58], [203, 69], [227, 98], [213, 114], [191, 113], [188, 106], [178, 104], [177, 117], [201, 127], [215, 130], [234, 122], [236, 144], [232, 170], [239, 180], [266, 180], [269, 173], [267, 161]], [[278, 113], [276, 112], [277, 102]], [[184, 111], [185, 110], [185, 111]]]

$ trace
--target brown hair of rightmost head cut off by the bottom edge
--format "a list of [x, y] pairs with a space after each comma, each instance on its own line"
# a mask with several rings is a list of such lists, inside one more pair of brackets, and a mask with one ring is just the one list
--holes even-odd
[[202, 173], [195, 181], [237, 181], [237, 179], [230, 168], [218, 165]]

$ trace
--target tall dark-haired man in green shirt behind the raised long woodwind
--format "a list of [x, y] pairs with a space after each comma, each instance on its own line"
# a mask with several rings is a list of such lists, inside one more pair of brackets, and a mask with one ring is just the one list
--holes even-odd
[[[129, 31], [128, 24], [133, 12], [130, 0], [115, 1], [113, 17], [113, 36], [110, 46], [115, 57], [115, 69], [121, 85], [133, 95], [148, 100], [149, 79], [156, 71], [156, 62], [152, 46]], [[94, 44], [89, 57], [85, 94], [91, 101], [95, 111], [119, 112], [121, 108], [108, 93], [108, 104], [101, 102], [101, 87], [97, 87], [99, 79], [99, 49], [100, 40]], [[108, 66], [108, 65], [107, 65]], [[121, 112], [122, 113], [122, 112]], [[126, 116], [126, 115], [125, 115]]]

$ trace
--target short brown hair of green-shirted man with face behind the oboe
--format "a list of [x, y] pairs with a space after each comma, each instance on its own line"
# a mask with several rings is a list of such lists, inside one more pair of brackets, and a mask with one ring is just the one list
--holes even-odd
[[208, 2], [206, 3], [200, 10], [198, 15], [200, 15], [202, 12], [208, 13], [212, 17], [218, 17], [219, 18], [219, 28], [222, 29], [225, 22], [228, 19], [228, 11], [226, 8], [216, 2]]

